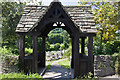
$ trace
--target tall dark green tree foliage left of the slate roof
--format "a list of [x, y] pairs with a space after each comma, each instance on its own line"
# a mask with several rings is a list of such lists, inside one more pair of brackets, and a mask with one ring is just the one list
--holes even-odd
[[16, 48], [18, 36], [15, 34], [16, 26], [21, 18], [25, 4], [17, 2], [2, 2], [2, 45]]

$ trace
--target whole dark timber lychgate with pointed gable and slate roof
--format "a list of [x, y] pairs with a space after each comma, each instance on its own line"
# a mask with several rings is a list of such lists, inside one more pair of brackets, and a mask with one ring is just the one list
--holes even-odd
[[[28, 69], [28, 71], [31, 71], [32, 73], [37, 73], [39, 67], [45, 67], [46, 37], [51, 30], [55, 28], [62, 28], [70, 34], [70, 37], [72, 39], [71, 68], [74, 69], [74, 77], [86, 75], [88, 72], [92, 72], [94, 74], [93, 37], [96, 35], [97, 30], [94, 27], [95, 25], [92, 25], [92, 23], [94, 23], [93, 17], [92, 18], [85, 17], [87, 21], [81, 21], [79, 22], [81, 23], [81, 25], [77, 25], [76, 22], [81, 20], [82, 18], [80, 18], [79, 16], [77, 16], [78, 17], [77, 18], [75, 15], [75, 14], [81, 15], [82, 13], [85, 13], [85, 14], [87, 13], [91, 15], [89, 11], [87, 10], [85, 11], [85, 7], [89, 7], [89, 6], [80, 6], [80, 7], [84, 7], [83, 10], [82, 8], [80, 8], [82, 10], [81, 13], [78, 10], [79, 7], [72, 7], [72, 8], [64, 7], [59, 1], [51, 2], [50, 6], [44, 7], [44, 9], [43, 7], [41, 9], [43, 11], [45, 10], [45, 12], [42, 15], [42, 17], [37, 18], [35, 23], [32, 23], [27, 20], [25, 21], [26, 17], [27, 17], [26, 19], [28, 19], [27, 13], [25, 11], [28, 11], [28, 13], [31, 12], [31, 16], [34, 15], [35, 17], [38, 17], [39, 15], [32, 14], [32, 10], [36, 8], [35, 10], [37, 13], [37, 11], [40, 11], [40, 9], [38, 9], [39, 8], [38, 6], [35, 6], [35, 7], [27, 6], [22, 15], [22, 18], [25, 16], [26, 17], [24, 19], [21, 18], [16, 28], [16, 33], [20, 35], [20, 45], [19, 45], [20, 69], [24, 71]], [[69, 14], [68, 13], [69, 11], [67, 9], [68, 10], [76, 9], [76, 11], [78, 12], [71, 12]], [[74, 15], [71, 16], [71, 14], [74, 14]], [[76, 18], [75, 20], [77, 19], [78, 20], [75, 21], [73, 20], [72, 17]], [[32, 17], [29, 17], [29, 19], [30, 18]], [[92, 20], [93, 22], [90, 20]], [[25, 24], [24, 22], [29, 22], [29, 23]], [[88, 22], [88, 24], [86, 25], [85, 22], [86, 23]], [[82, 23], [84, 24], [82, 25]], [[54, 26], [54, 24], [56, 24], [57, 26]], [[64, 26], [62, 26], [62, 24], [64, 24]], [[29, 27], [27, 28], [27, 26]], [[86, 28], [86, 26], [88, 27]], [[25, 36], [26, 35], [32, 36], [32, 43], [33, 43], [32, 45], [33, 54], [29, 57], [25, 56]], [[38, 53], [38, 45], [39, 45], [38, 37], [42, 38], [42, 52], [41, 53]], [[85, 39], [86, 38], [88, 38], [88, 55], [85, 55]], [[80, 40], [81, 40], [81, 43], [80, 43]], [[79, 43], [81, 44], [81, 53], [79, 52]]]

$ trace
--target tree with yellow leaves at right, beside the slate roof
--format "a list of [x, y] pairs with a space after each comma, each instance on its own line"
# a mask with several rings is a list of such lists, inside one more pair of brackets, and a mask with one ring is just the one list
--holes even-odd
[[115, 39], [115, 32], [120, 26], [118, 16], [118, 2], [86, 2], [80, 4], [92, 5], [94, 20], [98, 28], [98, 35], [102, 35], [103, 41]]

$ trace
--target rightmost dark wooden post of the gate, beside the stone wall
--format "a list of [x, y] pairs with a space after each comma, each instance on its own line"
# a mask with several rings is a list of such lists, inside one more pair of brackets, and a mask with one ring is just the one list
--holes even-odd
[[88, 36], [88, 72], [94, 74], [93, 36]]

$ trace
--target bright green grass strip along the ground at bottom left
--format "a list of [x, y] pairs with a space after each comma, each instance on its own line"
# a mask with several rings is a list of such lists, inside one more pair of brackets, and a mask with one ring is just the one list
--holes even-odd
[[0, 74], [0, 79], [4, 79], [4, 78], [42, 78], [39, 74], [35, 73], [35, 74], [23, 74], [23, 73], [9, 73], [9, 74]]

